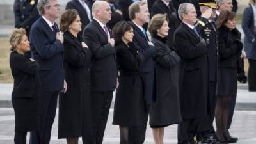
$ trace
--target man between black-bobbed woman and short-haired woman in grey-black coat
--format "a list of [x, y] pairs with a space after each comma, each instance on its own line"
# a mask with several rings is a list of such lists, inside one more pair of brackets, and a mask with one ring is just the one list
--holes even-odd
[[[145, 111], [148, 113], [150, 103], [154, 101], [154, 62], [152, 54], [154, 54], [154, 45], [149, 42], [147, 33], [143, 25], [149, 21], [150, 14], [145, 2], [135, 2], [129, 7], [129, 17], [132, 20], [133, 28], [133, 43], [138, 48], [138, 51], [145, 56], [145, 61], [140, 67], [140, 72], [144, 77], [144, 95], [145, 102], [148, 108]], [[129, 143], [141, 144], [145, 140], [145, 132], [147, 128], [147, 118], [145, 118], [145, 125], [142, 127], [129, 127]]]

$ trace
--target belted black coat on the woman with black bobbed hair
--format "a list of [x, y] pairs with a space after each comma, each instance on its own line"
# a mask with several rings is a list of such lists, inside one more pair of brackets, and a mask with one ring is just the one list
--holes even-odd
[[144, 93], [144, 78], [140, 67], [145, 56], [130, 44], [121, 42], [116, 45], [118, 61], [119, 86], [116, 90], [113, 124], [125, 126], [142, 126], [147, 120]]

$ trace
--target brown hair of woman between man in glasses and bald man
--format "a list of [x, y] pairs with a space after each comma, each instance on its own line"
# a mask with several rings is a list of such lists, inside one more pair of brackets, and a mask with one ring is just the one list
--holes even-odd
[[78, 16], [78, 12], [75, 9], [65, 10], [60, 17], [60, 31], [65, 32], [72, 22], [74, 22]]

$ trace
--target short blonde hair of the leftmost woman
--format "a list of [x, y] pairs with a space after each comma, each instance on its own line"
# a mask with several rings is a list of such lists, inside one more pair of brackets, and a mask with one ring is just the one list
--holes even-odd
[[26, 35], [26, 31], [23, 28], [13, 29], [9, 36], [9, 43], [11, 45], [10, 50], [14, 51], [18, 44], [20, 44], [22, 36]]

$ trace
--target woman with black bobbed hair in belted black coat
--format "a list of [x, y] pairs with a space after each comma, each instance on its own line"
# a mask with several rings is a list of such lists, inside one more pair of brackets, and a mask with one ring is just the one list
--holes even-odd
[[128, 22], [118, 22], [113, 28], [116, 42], [119, 86], [113, 124], [120, 127], [120, 143], [128, 144], [129, 127], [141, 127], [147, 122], [143, 75], [139, 71], [145, 57], [132, 44], [133, 29]]

